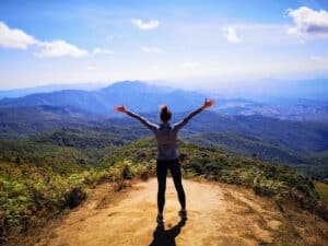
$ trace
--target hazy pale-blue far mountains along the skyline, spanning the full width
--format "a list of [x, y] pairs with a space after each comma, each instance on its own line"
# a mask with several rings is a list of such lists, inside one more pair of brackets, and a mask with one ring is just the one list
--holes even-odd
[[[57, 89], [57, 90], [56, 90]], [[168, 86], [153, 85], [141, 81], [121, 81], [106, 87], [95, 90], [59, 90], [59, 85], [46, 87], [42, 93], [35, 91], [45, 87], [24, 91], [27, 95], [9, 96], [0, 99], [0, 106], [70, 106], [102, 116], [116, 116], [114, 105], [126, 105], [132, 110], [157, 112], [159, 105], [166, 104], [174, 112], [186, 112], [198, 107], [206, 97], [216, 99], [212, 110], [227, 115], [261, 115], [280, 119], [328, 121], [328, 103], [319, 99], [276, 99], [270, 103], [259, 103], [245, 98], [229, 98], [209, 92], [186, 91]], [[65, 89], [65, 87], [63, 87]], [[84, 89], [86, 89], [84, 86]], [[59, 91], [58, 91], [59, 90]], [[0, 91], [5, 94], [5, 92]], [[23, 91], [16, 91], [15, 96]], [[19, 93], [19, 94], [17, 94]]]

